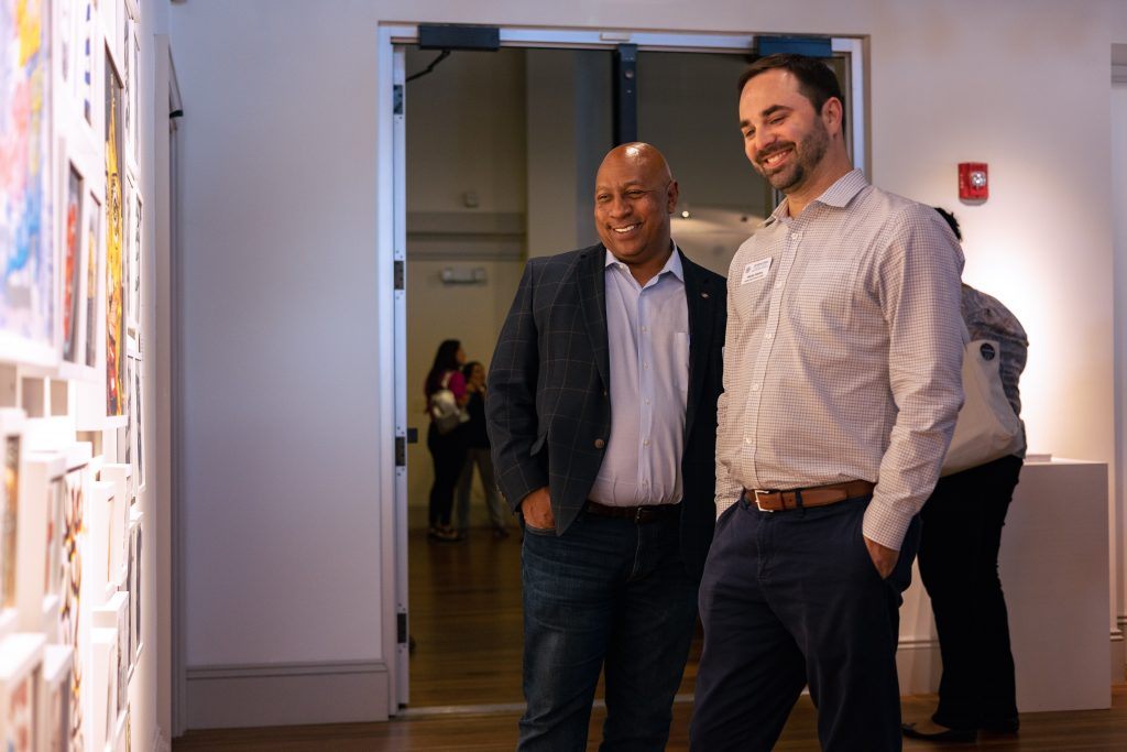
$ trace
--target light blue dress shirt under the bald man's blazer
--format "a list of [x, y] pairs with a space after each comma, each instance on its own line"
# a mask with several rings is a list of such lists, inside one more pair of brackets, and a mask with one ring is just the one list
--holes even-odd
[[689, 396], [689, 304], [681, 254], [645, 286], [606, 251], [611, 435], [591, 498], [676, 504]]

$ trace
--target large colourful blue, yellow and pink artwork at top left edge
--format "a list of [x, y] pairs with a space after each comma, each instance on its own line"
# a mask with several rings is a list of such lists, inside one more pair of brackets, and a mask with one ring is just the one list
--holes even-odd
[[54, 337], [50, 29], [46, 0], [0, 12], [0, 330]]

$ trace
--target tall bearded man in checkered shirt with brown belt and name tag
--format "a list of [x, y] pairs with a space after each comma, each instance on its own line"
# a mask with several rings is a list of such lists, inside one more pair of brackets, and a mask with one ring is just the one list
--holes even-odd
[[823, 749], [899, 750], [897, 610], [962, 402], [962, 255], [852, 168], [822, 62], [757, 61], [739, 118], [786, 201], [728, 273], [692, 749], [770, 750], [808, 684]]

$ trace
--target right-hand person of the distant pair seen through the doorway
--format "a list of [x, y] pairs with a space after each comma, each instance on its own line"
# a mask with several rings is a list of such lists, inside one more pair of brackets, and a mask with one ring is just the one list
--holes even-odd
[[470, 532], [470, 490], [473, 487], [473, 466], [477, 466], [486, 494], [492, 536], [497, 539], [508, 538], [505, 523], [508, 510], [497, 490], [492, 458], [489, 455], [489, 434], [486, 431], [486, 369], [481, 363], [470, 361], [462, 368], [462, 375], [465, 377], [465, 391], [470, 396], [465, 404], [470, 419], [462, 426], [465, 433], [465, 462], [458, 479], [458, 534], [464, 538]]

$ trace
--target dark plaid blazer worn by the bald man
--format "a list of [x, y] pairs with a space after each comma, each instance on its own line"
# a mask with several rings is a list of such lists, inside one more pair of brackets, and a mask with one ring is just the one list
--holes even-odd
[[[724, 277], [682, 254], [689, 397], [682, 457], [682, 556], [699, 577], [716, 520], [716, 402], [727, 321]], [[486, 416], [497, 485], [516, 511], [551, 489], [556, 532], [587, 501], [611, 433], [605, 249], [530, 259], [497, 340]]]

